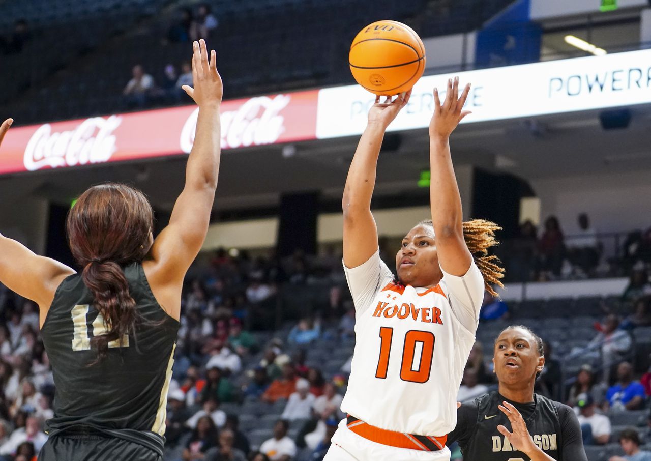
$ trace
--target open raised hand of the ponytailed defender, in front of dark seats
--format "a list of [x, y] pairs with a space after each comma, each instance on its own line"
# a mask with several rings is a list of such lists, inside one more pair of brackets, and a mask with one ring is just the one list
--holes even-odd
[[217, 56], [215, 50], [210, 50], [210, 61], [208, 61], [208, 49], [206, 41], [202, 38], [199, 42], [193, 42], [192, 48], [192, 85], [183, 85], [181, 88], [195, 100], [199, 107], [204, 105], [221, 104], [223, 86], [221, 76], [217, 72]]

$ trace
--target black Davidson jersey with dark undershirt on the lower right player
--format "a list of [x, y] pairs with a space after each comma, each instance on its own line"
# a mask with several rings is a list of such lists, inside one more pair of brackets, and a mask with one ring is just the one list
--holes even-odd
[[587, 460], [581, 428], [570, 407], [538, 394], [534, 394], [533, 402], [521, 404], [493, 391], [462, 404], [458, 410], [457, 425], [450, 432], [447, 443], [459, 443], [464, 461], [529, 460], [497, 430], [499, 425], [511, 430], [508, 417], [497, 408], [505, 400], [518, 408], [534, 443], [544, 453], [558, 461]]

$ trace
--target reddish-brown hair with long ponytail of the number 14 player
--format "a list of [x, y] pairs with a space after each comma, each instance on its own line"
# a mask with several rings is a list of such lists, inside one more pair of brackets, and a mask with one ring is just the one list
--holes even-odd
[[68, 213], [68, 244], [81, 277], [92, 294], [92, 305], [104, 318], [106, 333], [90, 344], [98, 352], [94, 363], [107, 354], [109, 343], [135, 339], [143, 320], [129, 292], [124, 266], [141, 262], [149, 249], [154, 212], [145, 195], [124, 184], [101, 184], [85, 191]]

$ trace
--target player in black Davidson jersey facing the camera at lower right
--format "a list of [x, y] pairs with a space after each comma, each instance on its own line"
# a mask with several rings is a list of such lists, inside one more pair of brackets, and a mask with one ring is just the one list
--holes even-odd
[[468, 460], [588, 461], [572, 408], [533, 391], [545, 366], [542, 339], [509, 326], [493, 354], [497, 391], [460, 406], [448, 443], [458, 441]]

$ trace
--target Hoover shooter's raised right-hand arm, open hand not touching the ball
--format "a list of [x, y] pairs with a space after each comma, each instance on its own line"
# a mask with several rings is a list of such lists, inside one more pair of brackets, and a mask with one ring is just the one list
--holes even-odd
[[434, 115], [430, 122], [430, 204], [436, 249], [441, 269], [451, 275], [465, 275], [472, 255], [464, 240], [462, 208], [450, 155], [450, 134], [470, 112], [463, 111], [470, 91], [466, 85], [459, 96], [459, 79], [448, 80], [445, 101], [441, 104], [434, 89]]

